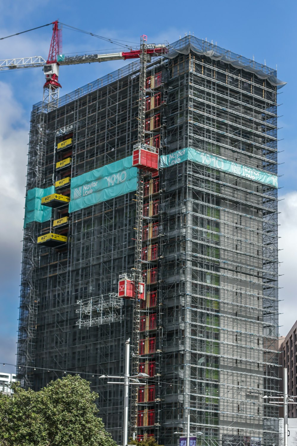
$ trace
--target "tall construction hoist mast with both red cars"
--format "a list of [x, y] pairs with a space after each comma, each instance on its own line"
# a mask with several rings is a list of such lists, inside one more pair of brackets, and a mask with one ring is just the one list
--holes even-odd
[[[149, 376], [155, 376], [148, 370], [146, 363], [155, 365], [155, 361], [140, 362], [140, 359], [146, 358], [145, 355], [151, 355], [155, 353], [155, 341], [156, 337], [151, 334], [151, 330], [156, 330], [156, 314], [143, 315], [144, 308], [147, 308], [146, 299], [150, 300], [150, 295], [156, 293], [147, 293], [144, 275], [146, 275], [147, 283], [157, 282], [157, 268], [147, 269], [149, 260], [157, 260], [158, 247], [157, 245], [149, 245], [147, 248], [143, 248], [142, 235], [143, 235], [143, 219], [149, 218], [154, 215], [154, 202], [149, 202], [145, 207], [143, 206], [144, 196], [150, 195], [152, 184], [145, 179], [158, 176], [159, 168], [159, 144], [150, 144], [151, 139], [154, 143], [154, 138], [146, 140], [147, 122], [146, 122], [146, 108], [147, 108], [147, 96], [148, 91], [152, 92], [152, 85], [148, 85], [146, 79], [146, 67], [148, 60], [148, 50], [151, 50], [151, 46], [146, 43], [147, 37], [141, 37], [140, 44], [140, 67], [139, 67], [139, 102], [138, 102], [138, 142], [133, 148], [133, 166], [138, 168], [138, 182], [136, 191], [136, 225], [135, 225], [135, 261], [134, 268], [131, 275], [121, 275], [119, 277], [118, 295], [126, 298], [133, 298], [133, 334], [132, 334], [132, 374], [137, 375], [138, 372], [149, 372]], [[151, 78], [150, 78], [151, 79]], [[151, 118], [154, 120], [154, 118]], [[159, 124], [158, 124], [159, 125]], [[159, 181], [158, 181], [159, 185]], [[148, 186], [148, 187], [147, 187]], [[159, 186], [158, 186], [159, 191]], [[158, 202], [159, 204], [159, 202]], [[147, 209], [146, 209], [147, 208]], [[149, 223], [147, 229], [147, 240], [151, 239], [151, 233], [154, 223]], [[154, 226], [155, 229], [155, 226]], [[146, 235], [145, 235], [146, 237]], [[143, 265], [146, 264], [146, 271], [143, 270]], [[148, 285], [150, 286], [150, 285]], [[142, 302], [145, 303], [143, 306]], [[156, 305], [156, 302], [155, 302]], [[146, 336], [147, 333], [150, 334]], [[143, 335], [146, 337], [143, 338]], [[146, 371], [147, 368], [147, 371]], [[154, 396], [154, 398], [153, 398]], [[155, 402], [155, 384], [151, 386], [144, 386], [143, 388], [133, 388], [131, 395], [131, 413], [130, 413], [130, 426], [133, 429], [134, 434], [137, 433], [138, 427], [153, 428], [155, 425], [155, 410], [154, 409], [142, 409], [143, 404], [152, 404]], [[142, 406], [139, 407], [139, 403]], [[154, 434], [149, 434], [154, 435]], [[140, 436], [141, 437], [141, 436]]]

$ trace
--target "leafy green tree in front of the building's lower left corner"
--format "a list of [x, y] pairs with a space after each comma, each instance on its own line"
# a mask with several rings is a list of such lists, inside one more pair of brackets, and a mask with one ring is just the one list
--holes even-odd
[[80, 376], [38, 392], [12, 388], [12, 396], [0, 394], [1, 446], [116, 446], [98, 418], [98, 394]]

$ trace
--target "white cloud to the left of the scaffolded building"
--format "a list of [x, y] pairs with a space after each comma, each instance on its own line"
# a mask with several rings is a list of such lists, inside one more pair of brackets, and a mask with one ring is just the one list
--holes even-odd
[[1, 287], [19, 281], [29, 123], [8, 84], [0, 82]]

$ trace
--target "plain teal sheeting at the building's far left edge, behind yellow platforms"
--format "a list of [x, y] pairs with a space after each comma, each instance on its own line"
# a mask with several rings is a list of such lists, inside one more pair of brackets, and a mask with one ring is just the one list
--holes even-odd
[[25, 201], [24, 228], [27, 226], [28, 223], [43, 223], [50, 220], [52, 216], [52, 208], [48, 206], [42, 206], [41, 198], [53, 194], [54, 192], [54, 186], [47, 187], [46, 189], [34, 187], [34, 189], [28, 190]]

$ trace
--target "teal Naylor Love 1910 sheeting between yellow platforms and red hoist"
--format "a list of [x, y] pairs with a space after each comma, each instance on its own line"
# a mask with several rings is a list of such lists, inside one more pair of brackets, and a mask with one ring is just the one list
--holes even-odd
[[134, 192], [136, 189], [137, 168], [132, 167], [132, 157], [123, 158], [71, 178], [69, 212]]

